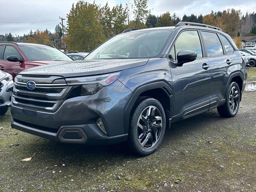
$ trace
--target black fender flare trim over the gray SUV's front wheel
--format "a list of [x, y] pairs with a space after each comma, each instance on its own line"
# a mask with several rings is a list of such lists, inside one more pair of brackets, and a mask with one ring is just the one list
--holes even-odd
[[152, 89], [157, 89], [157, 88], [161, 88], [162, 90], [164, 90], [164, 92], [167, 94], [168, 98], [170, 99], [170, 114], [169, 114], [169, 117], [166, 117], [166, 121], [171, 120], [170, 117], [172, 117], [172, 112], [173, 112], [173, 98], [172, 98], [172, 89], [170, 88], [170, 86], [168, 86], [168, 84], [166, 84], [166, 82], [162, 82], [162, 81], [145, 84], [145, 85], [138, 87], [134, 91], [132, 98], [126, 105], [126, 108], [124, 110], [124, 133], [128, 133], [128, 131], [129, 131], [130, 114], [131, 114], [132, 108], [133, 108], [136, 100], [140, 96], [140, 94], [142, 94], [143, 92], [152, 90]]

